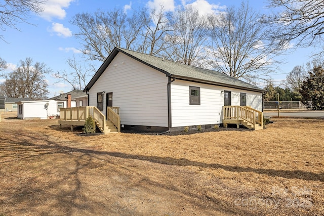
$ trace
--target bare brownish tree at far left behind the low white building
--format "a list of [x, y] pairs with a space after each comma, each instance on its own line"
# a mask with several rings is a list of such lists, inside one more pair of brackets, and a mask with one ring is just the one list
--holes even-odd
[[45, 99], [49, 93], [45, 74], [49, 72], [51, 69], [44, 63], [33, 64], [31, 58], [21, 60], [17, 69], [5, 75], [1, 92], [7, 97]]

